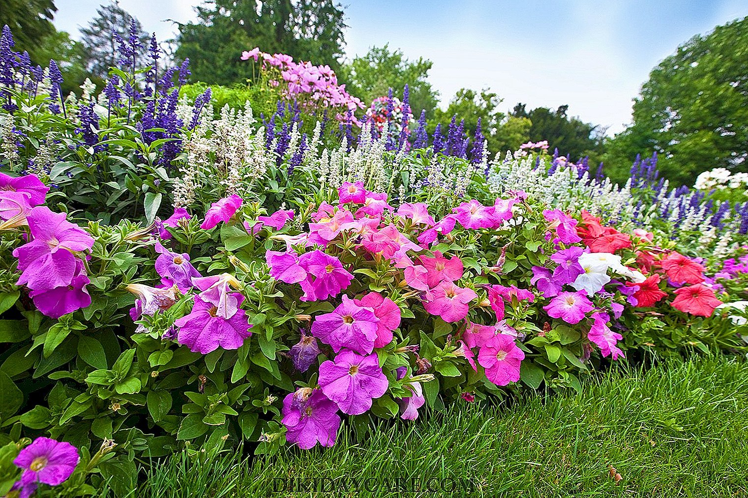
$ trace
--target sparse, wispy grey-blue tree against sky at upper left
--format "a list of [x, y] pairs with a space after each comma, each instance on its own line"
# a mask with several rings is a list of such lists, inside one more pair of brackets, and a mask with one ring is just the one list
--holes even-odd
[[[135, 21], [133, 25], [132, 22]], [[134, 29], [133, 29], [134, 28]], [[81, 43], [86, 53], [87, 69], [99, 78], [105, 78], [109, 67], [117, 66], [120, 59], [117, 36], [123, 40], [135, 37], [139, 41], [138, 59], [147, 63], [147, 51], [150, 36], [143, 31], [143, 26], [122, 7], [117, 0], [96, 9], [96, 17], [91, 19], [87, 28], [81, 28]]]

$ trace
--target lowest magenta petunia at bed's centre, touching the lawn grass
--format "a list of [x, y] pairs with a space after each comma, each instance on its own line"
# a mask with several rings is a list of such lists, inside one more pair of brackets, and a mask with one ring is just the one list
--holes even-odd
[[[311, 393], [310, 393], [311, 391]], [[319, 389], [302, 387], [283, 398], [283, 426], [286, 441], [296, 443], [301, 449], [332, 446], [340, 429], [337, 405]]]

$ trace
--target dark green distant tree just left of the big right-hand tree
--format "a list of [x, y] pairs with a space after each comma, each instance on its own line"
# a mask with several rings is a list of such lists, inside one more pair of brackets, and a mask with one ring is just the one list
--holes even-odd
[[589, 155], [590, 160], [597, 161], [602, 152], [605, 129], [577, 117], [567, 115], [568, 105], [561, 105], [556, 110], [535, 108], [527, 111], [526, 105], [515, 105], [512, 116], [526, 117], [533, 123], [530, 126], [530, 140], [548, 140], [551, 149], [567, 155], [572, 161]]

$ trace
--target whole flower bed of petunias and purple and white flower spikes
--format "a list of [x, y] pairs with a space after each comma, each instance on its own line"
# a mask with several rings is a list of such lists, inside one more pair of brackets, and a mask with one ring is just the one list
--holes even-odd
[[[177, 111], [156, 84], [165, 122], [194, 119], [153, 131], [153, 100], [114, 93], [135, 73], [109, 81], [108, 108], [63, 112], [9, 67], [1, 493], [125, 494], [136, 459], [184, 447], [331, 446], [341, 423], [580, 389], [647, 350], [745, 349], [745, 323], [714, 314], [735, 261], [707, 276], [709, 261], [621, 215], [636, 199], [607, 211], [601, 192], [631, 184], [546, 169], [543, 152], [488, 163], [480, 134], [468, 161], [456, 122], [439, 150], [371, 124], [325, 149], [321, 131], [255, 128], [251, 105], [203, 114], [209, 93]], [[519, 190], [523, 168], [568, 190]]]

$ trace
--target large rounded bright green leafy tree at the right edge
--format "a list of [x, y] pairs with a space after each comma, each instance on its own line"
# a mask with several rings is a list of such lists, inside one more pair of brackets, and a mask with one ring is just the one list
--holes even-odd
[[748, 171], [748, 17], [696, 35], [649, 73], [606, 164], [621, 164], [622, 177], [637, 153], [652, 152], [682, 184], [719, 166]]

